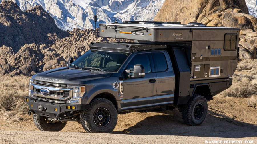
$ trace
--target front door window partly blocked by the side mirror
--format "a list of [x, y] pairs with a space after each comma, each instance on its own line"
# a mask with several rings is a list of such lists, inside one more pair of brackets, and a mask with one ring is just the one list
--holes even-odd
[[[134, 65], [142, 65], [145, 69], [145, 73], [151, 73], [151, 65], [148, 54], [138, 54], [128, 63], [126, 69], [134, 70]], [[133, 75], [133, 73], [130, 73]]]

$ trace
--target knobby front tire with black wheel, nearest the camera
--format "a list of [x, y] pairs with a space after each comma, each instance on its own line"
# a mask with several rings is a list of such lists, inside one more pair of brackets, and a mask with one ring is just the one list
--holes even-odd
[[[97, 126], [97, 122], [95, 122], [96, 119], [94, 120], [94, 118], [96, 118], [94, 114], [99, 108], [104, 110], [104, 112], [106, 113], [104, 114], [105, 117], [109, 117], [106, 126], [102, 125], [104, 127]], [[87, 106], [87, 109], [81, 113], [80, 122], [82, 127], [87, 132], [110, 133], [115, 128], [117, 124], [117, 119], [118, 113], [114, 104], [105, 98], [96, 98], [92, 100], [89, 106]]]

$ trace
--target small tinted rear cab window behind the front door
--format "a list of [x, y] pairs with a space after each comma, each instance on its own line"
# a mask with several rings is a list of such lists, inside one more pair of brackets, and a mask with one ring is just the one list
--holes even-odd
[[168, 69], [167, 61], [163, 53], [152, 53], [152, 58], [156, 72], [166, 71]]

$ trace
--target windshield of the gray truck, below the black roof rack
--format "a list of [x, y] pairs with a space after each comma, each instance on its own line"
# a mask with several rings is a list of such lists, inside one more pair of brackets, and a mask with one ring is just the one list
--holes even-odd
[[[72, 66], [78, 66], [82, 68], [91, 68], [93, 70], [103, 71], [117, 71], [129, 53], [123, 52], [107, 52], [107, 51], [92, 51], [89, 50], [85, 54], [76, 59]], [[97, 68], [97, 69], [96, 69]]]

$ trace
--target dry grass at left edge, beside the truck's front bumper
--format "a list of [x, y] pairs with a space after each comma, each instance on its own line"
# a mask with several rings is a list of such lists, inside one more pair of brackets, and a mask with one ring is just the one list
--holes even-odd
[[28, 95], [29, 77], [1, 77], [0, 82], [0, 114], [7, 122], [17, 124], [28, 107], [25, 96]]

